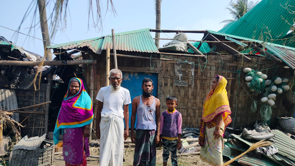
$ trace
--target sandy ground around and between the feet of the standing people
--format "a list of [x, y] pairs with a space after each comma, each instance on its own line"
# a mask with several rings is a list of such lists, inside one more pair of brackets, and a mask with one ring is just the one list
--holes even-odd
[[[99, 156], [99, 145], [98, 141], [92, 141], [90, 144], [90, 155], [91, 156]], [[133, 154], [134, 154], [134, 144], [124, 144], [125, 146], [125, 162], [123, 162], [123, 166], [132, 166], [133, 165]], [[157, 161], [156, 166], [163, 165], [163, 158], [162, 158], [163, 149], [157, 149]], [[56, 166], [64, 166], [65, 162], [63, 160], [62, 154], [55, 155], [54, 164]], [[98, 158], [88, 157], [87, 158], [87, 165], [88, 166], [98, 166], [99, 160]], [[168, 160], [168, 166], [171, 165], [171, 160]], [[178, 165], [179, 166], [209, 166], [209, 164], [200, 160], [199, 155], [190, 155], [190, 156], [181, 156], [178, 157]]]

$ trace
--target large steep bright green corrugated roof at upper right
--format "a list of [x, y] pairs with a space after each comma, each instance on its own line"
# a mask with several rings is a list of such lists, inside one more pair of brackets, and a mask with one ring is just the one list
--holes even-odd
[[[281, 39], [287, 34], [295, 19], [295, 14], [285, 9], [286, 6], [295, 11], [293, 0], [262, 0], [240, 19], [229, 23], [218, 32], [264, 41], [270, 41], [269, 38]], [[261, 34], [263, 38], [260, 37]], [[274, 43], [279, 44], [280, 41]]]

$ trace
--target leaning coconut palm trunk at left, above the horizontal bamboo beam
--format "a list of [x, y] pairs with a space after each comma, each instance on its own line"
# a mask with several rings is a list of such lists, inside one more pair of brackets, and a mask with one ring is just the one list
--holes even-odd
[[44, 45], [44, 57], [47, 61], [52, 61], [51, 52], [47, 51], [46, 47], [50, 46], [50, 38], [48, 32], [47, 16], [46, 16], [46, 6], [45, 0], [38, 0], [39, 15], [40, 15], [40, 25]]

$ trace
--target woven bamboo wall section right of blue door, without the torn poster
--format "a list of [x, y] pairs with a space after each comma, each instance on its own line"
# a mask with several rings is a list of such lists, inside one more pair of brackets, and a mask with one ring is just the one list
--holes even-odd
[[[249, 88], [245, 85], [244, 73], [239, 74], [237, 70], [242, 70], [245, 67], [250, 67], [255, 70], [263, 70], [264, 74], [268, 75], [271, 79], [275, 76], [288, 77], [290, 69], [283, 68], [286, 64], [275, 64], [274, 61], [266, 58], [252, 58], [251, 63], [243, 63], [235, 61], [235, 56], [220, 56], [209, 55], [208, 61], [201, 60], [201, 58], [187, 58], [187, 57], [173, 57], [181, 61], [193, 62], [194, 64], [194, 77], [192, 77], [191, 64], [181, 65], [182, 78], [188, 83], [187, 86], [176, 86], [175, 79], [178, 77], [175, 75], [176, 61], [165, 61], [164, 69], [164, 87], [163, 87], [163, 99], [169, 95], [176, 95], [178, 97], [177, 109], [182, 114], [183, 126], [187, 127], [199, 127], [202, 105], [206, 98], [206, 95], [211, 90], [211, 81], [214, 76], [222, 75], [227, 81], [227, 94], [229, 97], [230, 108], [232, 110], [231, 126], [233, 127], [245, 127], [253, 126], [255, 121], [260, 120], [260, 105], [257, 105], [257, 111], [253, 113], [250, 110], [252, 99], [260, 103], [260, 95], [255, 96], [250, 92]], [[200, 65], [202, 66], [200, 66]], [[243, 65], [243, 66], [242, 66]], [[203, 67], [206, 66], [206, 67]], [[278, 67], [276, 67], [278, 66]], [[276, 67], [276, 68], [274, 68]], [[270, 68], [270, 69], [269, 69]], [[267, 69], [267, 70], [264, 70]], [[193, 78], [193, 84], [191, 79]], [[240, 80], [240, 86], [239, 85]], [[243, 88], [243, 87], [244, 88]], [[282, 105], [283, 96], [276, 97], [276, 104], [273, 108], [271, 126], [276, 126], [276, 116], [289, 116], [290, 112], [287, 112]], [[161, 103], [164, 103], [162, 100]], [[238, 103], [238, 104], [237, 104]], [[162, 110], [167, 107], [162, 104]], [[235, 120], [235, 122], [234, 122]]]

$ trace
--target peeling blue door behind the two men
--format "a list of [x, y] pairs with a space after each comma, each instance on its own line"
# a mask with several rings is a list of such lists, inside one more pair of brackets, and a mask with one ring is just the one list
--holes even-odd
[[[142, 80], [144, 78], [150, 78], [153, 80], [153, 96], [157, 97], [158, 92], [158, 73], [144, 73], [144, 72], [130, 72], [130, 71], [122, 71], [123, 81], [121, 86], [128, 89], [130, 92], [131, 101], [134, 97], [142, 94]], [[132, 103], [129, 104], [129, 128], [131, 128], [131, 113], [132, 113]], [[125, 127], [125, 126], [124, 126]], [[136, 121], [135, 126], [136, 128]]]

